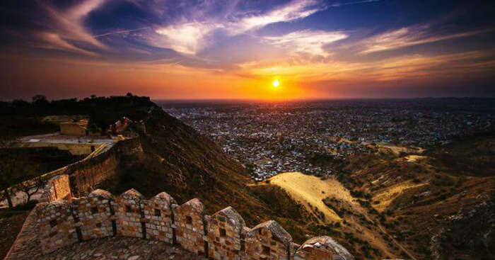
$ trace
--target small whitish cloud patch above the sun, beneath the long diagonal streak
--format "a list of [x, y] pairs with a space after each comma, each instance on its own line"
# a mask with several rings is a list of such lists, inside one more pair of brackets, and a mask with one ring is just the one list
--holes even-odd
[[274, 45], [279, 45], [291, 50], [291, 52], [326, 56], [327, 52], [323, 50], [325, 45], [347, 37], [348, 35], [346, 33], [339, 31], [327, 32], [323, 30], [298, 30], [286, 35], [268, 36], [264, 39]]

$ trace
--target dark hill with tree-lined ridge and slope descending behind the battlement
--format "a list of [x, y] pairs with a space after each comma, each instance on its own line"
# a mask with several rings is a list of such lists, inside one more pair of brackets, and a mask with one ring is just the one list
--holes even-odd
[[[149, 98], [129, 94], [81, 101], [69, 99], [2, 106], [2, 118], [13, 118], [9, 124], [13, 127], [8, 129], [9, 132], [15, 132], [13, 128], [21, 122], [20, 118], [31, 118], [35, 124], [46, 115], [87, 114], [90, 123], [103, 125], [125, 116], [132, 121], [127, 134], [139, 138], [142, 152], [122, 158], [117, 177], [95, 188], [105, 188], [115, 194], [136, 188], [147, 197], [168, 191], [177, 203], [200, 198], [210, 214], [231, 205], [251, 227], [266, 220], [277, 220], [293, 234], [295, 242], [305, 240], [305, 217], [300, 205], [281, 189], [265, 192], [248, 188], [248, 172], [240, 163], [226, 157], [209, 138], [171, 117]], [[34, 130], [27, 133], [42, 132]], [[5, 240], [5, 248], [0, 252], [6, 254], [26, 214], [20, 211], [23, 214], [16, 213], [14, 218], [9, 210], [2, 210], [1, 213], [5, 215], [0, 217], [1, 220], [15, 227], [13, 236]]]

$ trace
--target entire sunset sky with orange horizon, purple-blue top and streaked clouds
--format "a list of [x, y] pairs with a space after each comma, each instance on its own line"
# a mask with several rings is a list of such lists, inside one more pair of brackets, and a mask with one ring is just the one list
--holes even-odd
[[493, 97], [494, 6], [3, 0], [0, 100]]

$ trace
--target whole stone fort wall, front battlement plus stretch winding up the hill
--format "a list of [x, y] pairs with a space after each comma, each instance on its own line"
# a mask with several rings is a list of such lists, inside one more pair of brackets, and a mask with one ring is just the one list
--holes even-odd
[[[6, 260], [40, 257], [62, 247], [101, 237], [137, 237], [177, 245], [210, 259], [354, 259], [331, 237], [313, 237], [293, 243], [289, 232], [269, 220], [245, 225], [232, 207], [213, 215], [194, 198], [178, 205], [168, 193], [146, 200], [130, 189], [120, 196], [89, 189], [116, 174], [122, 154], [141, 150], [137, 138], [122, 140], [85, 159], [50, 172], [40, 201]], [[73, 198], [74, 194], [88, 196]], [[31, 233], [36, 229], [34, 237]], [[26, 242], [41, 244], [41, 251], [26, 250]]]

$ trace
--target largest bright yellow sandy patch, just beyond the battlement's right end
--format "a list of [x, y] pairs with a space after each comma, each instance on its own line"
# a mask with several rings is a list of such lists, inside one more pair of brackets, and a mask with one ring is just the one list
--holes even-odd
[[334, 197], [351, 203], [353, 201], [349, 191], [335, 179], [322, 181], [316, 176], [286, 172], [273, 176], [269, 180], [270, 183], [284, 188], [294, 200], [304, 205], [308, 212], [313, 212], [308, 203], [313, 207], [316, 206], [320, 212], [325, 214], [327, 220], [332, 220], [331, 222], [339, 221], [341, 218], [323, 203], [323, 199]]

